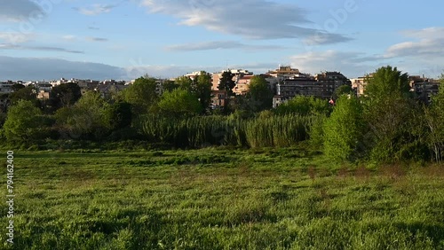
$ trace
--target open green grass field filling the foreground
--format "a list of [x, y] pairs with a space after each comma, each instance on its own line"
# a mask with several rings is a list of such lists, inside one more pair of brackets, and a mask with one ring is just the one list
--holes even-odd
[[444, 249], [444, 166], [297, 148], [15, 152], [14, 166], [15, 249]]

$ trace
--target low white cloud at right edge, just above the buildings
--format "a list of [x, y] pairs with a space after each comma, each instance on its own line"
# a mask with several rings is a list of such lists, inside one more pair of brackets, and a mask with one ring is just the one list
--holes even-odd
[[428, 27], [401, 32], [408, 37], [381, 51], [368, 55], [356, 51], [313, 51], [291, 57], [291, 65], [306, 73], [342, 71], [345, 76], [357, 77], [371, 73], [387, 64], [397, 66], [408, 74], [436, 77], [444, 71], [444, 27]]

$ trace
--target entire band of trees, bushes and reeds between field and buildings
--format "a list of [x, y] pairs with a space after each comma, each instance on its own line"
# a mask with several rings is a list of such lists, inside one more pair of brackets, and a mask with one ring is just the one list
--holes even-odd
[[[20, 88], [3, 116], [1, 136], [9, 145], [38, 148], [67, 141], [143, 141], [176, 148], [287, 147], [307, 141], [337, 161], [442, 160], [444, 88], [426, 105], [396, 67], [377, 69], [368, 82], [361, 98], [349, 87], [339, 88], [334, 106], [297, 97], [271, 109], [273, 92], [256, 76], [250, 93], [228, 97], [222, 110], [209, 108], [211, 82], [204, 72], [194, 80], [165, 82], [162, 95], [149, 77], [105, 97], [94, 91], [81, 95], [75, 84], [63, 84], [42, 102], [28, 87]], [[232, 88], [228, 83], [220, 88]]]

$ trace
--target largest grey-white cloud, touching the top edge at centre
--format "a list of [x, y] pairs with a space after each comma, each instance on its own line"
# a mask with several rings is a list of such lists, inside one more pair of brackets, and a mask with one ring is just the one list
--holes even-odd
[[179, 24], [203, 26], [209, 30], [242, 35], [252, 39], [321, 37], [312, 43], [340, 43], [351, 40], [344, 35], [326, 33], [304, 27], [312, 22], [305, 10], [295, 4], [279, 4], [266, 0], [143, 0], [150, 12], [178, 18]]

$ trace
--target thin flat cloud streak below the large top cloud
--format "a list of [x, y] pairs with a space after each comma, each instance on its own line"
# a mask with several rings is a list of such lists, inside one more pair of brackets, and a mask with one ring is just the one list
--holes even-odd
[[254, 45], [245, 44], [235, 41], [211, 41], [203, 43], [186, 43], [170, 45], [165, 48], [167, 51], [210, 51], [210, 50], [228, 50], [228, 49], [242, 49], [246, 51], [258, 50], [281, 50], [285, 49], [278, 45]]

